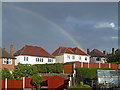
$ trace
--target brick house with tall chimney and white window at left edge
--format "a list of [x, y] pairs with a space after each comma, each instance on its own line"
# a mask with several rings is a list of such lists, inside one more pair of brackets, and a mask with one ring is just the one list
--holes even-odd
[[14, 62], [15, 57], [13, 56], [13, 45], [11, 45], [10, 53], [8, 53], [5, 49], [0, 48], [1, 57], [0, 57], [0, 71], [2, 69], [7, 68], [10, 73], [14, 71]]

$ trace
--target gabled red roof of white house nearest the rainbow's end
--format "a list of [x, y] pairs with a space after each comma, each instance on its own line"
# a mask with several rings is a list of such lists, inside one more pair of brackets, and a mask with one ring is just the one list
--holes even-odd
[[77, 47], [75, 48], [59, 47], [52, 53], [52, 55], [57, 56], [57, 55], [64, 54], [64, 53], [89, 56], [88, 54], [86, 54], [84, 51], [82, 51], [81, 49]]

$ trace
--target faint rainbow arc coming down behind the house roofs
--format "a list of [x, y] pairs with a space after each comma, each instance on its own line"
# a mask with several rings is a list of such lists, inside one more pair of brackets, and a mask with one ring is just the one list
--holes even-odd
[[61, 26], [57, 25], [56, 23], [54, 23], [53, 21], [51, 21], [50, 19], [48, 19], [47, 17], [44, 17], [44, 16], [41, 16], [39, 13], [37, 12], [34, 12], [34, 11], [31, 11], [31, 10], [28, 10], [28, 9], [25, 9], [25, 8], [22, 8], [22, 7], [18, 7], [18, 6], [15, 6], [15, 5], [12, 5], [12, 4], [5, 4], [3, 3], [2, 5], [5, 5], [5, 6], [10, 6], [10, 7], [13, 7], [13, 8], [16, 8], [18, 10], [22, 10], [22, 11], [25, 11], [25, 12], [28, 12], [32, 15], [35, 15], [35, 16], [38, 16], [40, 17], [42, 20], [48, 22], [49, 24], [53, 25], [54, 27], [58, 28], [62, 33], [64, 33], [64, 35], [66, 35], [77, 47], [79, 47], [80, 49], [83, 50], [82, 46], [73, 38], [73, 36], [68, 33], [65, 29], [63, 29]]

